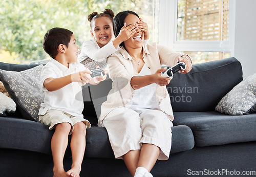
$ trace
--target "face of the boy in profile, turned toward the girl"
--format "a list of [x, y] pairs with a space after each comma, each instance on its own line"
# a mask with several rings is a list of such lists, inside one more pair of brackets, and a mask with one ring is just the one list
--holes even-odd
[[76, 45], [76, 37], [72, 34], [69, 42], [69, 47], [66, 50], [68, 63], [74, 63], [77, 61], [79, 47]]

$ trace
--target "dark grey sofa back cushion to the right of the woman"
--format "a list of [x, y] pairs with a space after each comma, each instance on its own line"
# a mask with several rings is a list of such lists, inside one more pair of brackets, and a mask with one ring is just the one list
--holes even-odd
[[241, 63], [227, 58], [194, 64], [187, 74], [175, 73], [167, 90], [174, 112], [212, 111], [242, 80]]

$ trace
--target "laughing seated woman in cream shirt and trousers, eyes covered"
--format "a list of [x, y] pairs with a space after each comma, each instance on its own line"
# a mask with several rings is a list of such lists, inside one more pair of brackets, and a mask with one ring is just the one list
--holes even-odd
[[[118, 13], [114, 19], [117, 36], [127, 26], [140, 21], [132, 11]], [[143, 46], [144, 33], [136, 33], [120, 44], [108, 57], [113, 80], [108, 100], [101, 106], [98, 125], [109, 134], [115, 157], [123, 159], [133, 176], [152, 176], [149, 172], [157, 159], [167, 160], [172, 141], [173, 111], [165, 85], [172, 78], [162, 77], [161, 64], [186, 64], [182, 73], [191, 70], [191, 59], [167, 47]]]

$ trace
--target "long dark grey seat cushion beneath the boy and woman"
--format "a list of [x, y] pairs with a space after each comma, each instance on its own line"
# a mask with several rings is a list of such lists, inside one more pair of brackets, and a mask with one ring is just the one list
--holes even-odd
[[[0, 117], [0, 148], [36, 151], [51, 155], [51, 138], [54, 130], [39, 122], [18, 118]], [[171, 153], [192, 149], [194, 137], [191, 129], [185, 125], [172, 127]], [[70, 137], [69, 137], [70, 141]], [[86, 135], [86, 158], [115, 158], [108, 132], [103, 127], [91, 127]], [[66, 156], [70, 153], [70, 146]]]

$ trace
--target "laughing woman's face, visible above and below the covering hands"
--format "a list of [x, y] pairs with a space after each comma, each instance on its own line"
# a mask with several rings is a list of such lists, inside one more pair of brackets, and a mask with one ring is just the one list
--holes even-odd
[[[129, 14], [124, 19], [124, 22], [127, 24], [127, 26], [136, 24], [137, 21], [140, 21], [140, 19], [134, 14]], [[126, 49], [142, 48], [143, 44], [144, 44], [144, 32], [142, 32], [140, 29], [137, 29], [136, 33], [132, 37], [124, 41], [124, 46]]]

